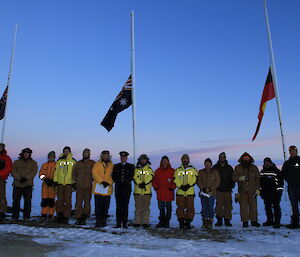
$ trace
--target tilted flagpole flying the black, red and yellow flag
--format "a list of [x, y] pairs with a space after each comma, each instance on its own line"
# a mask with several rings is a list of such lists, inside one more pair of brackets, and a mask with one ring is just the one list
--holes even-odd
[[269, 16], [268, 16], [268, 10], [267, 10], [267, 0], [265, 0], [265, 14], [266, 14], [266, 24], [267, 24], [268, 38], [269, 38], [269, 56], [270, 56], [270, 63], [271, 63], [271, 73], [272, 73], [272, 77], [274, 78], [274, 89], [275, 89], [277, 111], [278, 111], [278, 118], [279, 118], [279, 125], [280, 125], [283, 158], [286, 161], [285, 136], [284, 136], [283, 125], [282, 125], [281, 105], [280, 105], [280, 99], [279, 99], [279, 90], [278, 90], [278, 83], [277, 83], [277, 76], [276, 76], [271, 30], [270, 30]]

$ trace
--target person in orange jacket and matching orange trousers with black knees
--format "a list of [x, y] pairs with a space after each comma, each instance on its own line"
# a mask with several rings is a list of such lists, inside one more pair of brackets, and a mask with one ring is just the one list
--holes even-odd
[[48, 162], [41, 167], [39, 177], [43, 181], [42, 184], [42, 219], [52, 219], [54, 215], [55, 190], [53, 184], [53, 176], [55, 170], [55, 152], [48, 154]]

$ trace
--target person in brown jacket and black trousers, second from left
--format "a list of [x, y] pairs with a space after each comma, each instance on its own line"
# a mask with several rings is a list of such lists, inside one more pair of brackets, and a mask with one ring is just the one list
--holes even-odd
[[25, 148], [20, 153], [19, 159], [13, 163], [13, 220], [19, 219], [22, 196], [24, 198], [23, 219], [29, 220], [30, 218], [33, 178], [38, 170], [37, 163], [31, 158], [31, 154], [32, 150]]

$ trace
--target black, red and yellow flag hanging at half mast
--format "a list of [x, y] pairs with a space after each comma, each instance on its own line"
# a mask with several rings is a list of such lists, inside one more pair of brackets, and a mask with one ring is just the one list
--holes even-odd
[[260, 106], [259, 106], [259, 114], [258, 114], [258, 124], [256, 127], [256, 131], [254, 133], [254, 136], [252, 138], [252, 141], [255, 140], [258, 131], [260, 129], [260, 125], [262, 122], [262, 118], [264, 116], [265, 113], [265, 109], [266, 109], [266, 105], [267, 102], [270, 101], [271, 99], [275, 98], [275, 90], [274, 90], [274, 84], [273, 84], [273, 77], [272, 77], [272, 72], [271, 72], [271, 67], [269, 68], [269, 73], [268, 73], [268, 77], [265, 83], [265, 87], [264, 87], [264, 91], [261, 97], [261, 101], [260, 101]]

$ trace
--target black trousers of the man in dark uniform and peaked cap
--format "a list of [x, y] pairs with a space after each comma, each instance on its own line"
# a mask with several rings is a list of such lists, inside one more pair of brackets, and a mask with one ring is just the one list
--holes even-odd
[[116, 217], [117, 225], [127, 224], [128, 221], [128, 205], [130, 200], [131, 190], [129, 191], [117, 191], [116, 190]]

